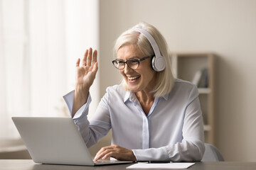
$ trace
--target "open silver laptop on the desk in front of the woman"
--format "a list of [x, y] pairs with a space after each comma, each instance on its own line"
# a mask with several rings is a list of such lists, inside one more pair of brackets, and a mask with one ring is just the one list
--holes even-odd
[[13, 117], [12, 120], [35, 163], [85, 166], [130, 163], [94, 162], [72, 118]]

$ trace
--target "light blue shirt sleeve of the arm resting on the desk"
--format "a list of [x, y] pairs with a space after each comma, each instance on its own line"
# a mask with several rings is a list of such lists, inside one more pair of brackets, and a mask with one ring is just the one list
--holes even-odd
[[174, 145], [149, 149], [133, 149], [137, 161], [201, 161], [205, 152], [203, 117], [198, 99], [198, 90], [194, 87], [188, 98], [183, 119], [183, 140]]

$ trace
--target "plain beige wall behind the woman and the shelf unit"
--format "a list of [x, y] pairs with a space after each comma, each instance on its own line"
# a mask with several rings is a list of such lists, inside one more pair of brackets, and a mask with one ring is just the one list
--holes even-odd
[[121, 76], [114, 40], [139, 21], [159, 28], [172, 51], [211, 51], [216, 63], [216, 146], [226, 161], [256, 161], [256, 1], [100, 1], [100, 96]]

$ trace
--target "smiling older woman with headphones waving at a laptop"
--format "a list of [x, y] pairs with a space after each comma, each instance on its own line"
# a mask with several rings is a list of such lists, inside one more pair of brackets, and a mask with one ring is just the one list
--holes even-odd
[[203, 118], [196, 86], [174, 79], [169, 50], [159, 30], [139, 23], [119, 36], [114, 67], [122, 84], [110, 86], [87, 120], [89, 89], [97, 73], [97, 51], [76, 62], [75, 91], [64, 96], [87, 147], [112, 129], [112, 145], [97, 159], [200, 161], [204, 153]]

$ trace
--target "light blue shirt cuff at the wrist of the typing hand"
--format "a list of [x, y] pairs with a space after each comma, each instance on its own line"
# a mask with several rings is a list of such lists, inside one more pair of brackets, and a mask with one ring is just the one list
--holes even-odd
[[165, 147], [132, 149], [137, 161], [169, 161]]

